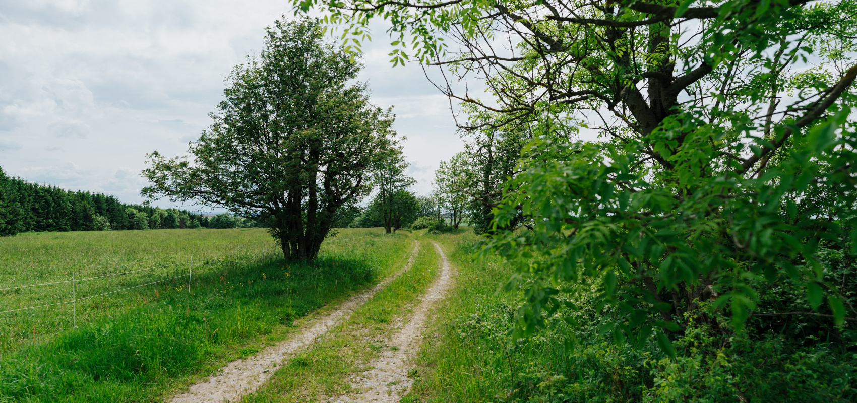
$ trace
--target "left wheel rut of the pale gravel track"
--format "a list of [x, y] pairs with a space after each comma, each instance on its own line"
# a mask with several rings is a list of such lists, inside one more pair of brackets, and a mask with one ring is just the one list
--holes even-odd
[[393, 276], [387, 277], [384, 282], [358, 293], [345, 300], [338, 308], [321, 314], [319, 317], [307, 320], [303, 323], [303, 330], [288, 341], [282, 341], [278, 345], [268, 347], [261, 353], [247, 359], [238, 359], [226, 365], [220, 374], [211, 376], [207, 381], [198, 382], [191, 386], [187, 393], [179, 394], [170, 400], [172, 403], [201, 403], [201, 402], [223, 402], [237, 401], [246, 394], [255, 392], [262, 383], [267, 381], [274, 371], [282, 366], [284, 359], [291, 357], [297, 351], [308, 346], [321, 335], [327, 334], [330, 329], [335, 328], [351, 316], [351, 314], [372, 298], [381, 288], [387, 286], [396, 279], [399, 274], [409, 270], [417, 259], [420, 243], [415, 242], [411, 258], [402, 270]]

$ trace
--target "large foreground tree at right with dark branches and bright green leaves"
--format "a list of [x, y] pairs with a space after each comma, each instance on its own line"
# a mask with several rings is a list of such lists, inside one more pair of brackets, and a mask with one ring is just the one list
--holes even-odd
[[[857, 254], [854, 0], [299, 3], [314, 5], [351, 35], [390, 21], [395, 62], [481, 76], [487, 100], [441, 83], [495, 114], [464, 127], [534, 122], [494, 221], [523, 215], [531, 229], [488, 249], [519, 269], [524, 330], [560, 308], [557, 293], [593, 288], [623, 312], [604, 331], [654, 331], [665, 349], [660, 332], [682, 332], [709, 300], [736, 327], [857, 321], [854, 283], [819, 258]], [[806, 311], [759, 305], [780, 286]]]

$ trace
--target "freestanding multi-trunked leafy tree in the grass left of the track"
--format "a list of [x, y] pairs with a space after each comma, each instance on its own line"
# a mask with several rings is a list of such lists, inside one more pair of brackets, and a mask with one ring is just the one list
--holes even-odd
[[142, 193], [222, 206], [267, 225], [285, 258], [315, 258], [337, 210], [400, 153], [393, 116], [354, 83], [361, 65], [322, 36], [310, 19], [268, 28], [261, 55], [232, 71], [192, 159], [150, 154]]

